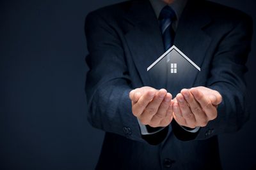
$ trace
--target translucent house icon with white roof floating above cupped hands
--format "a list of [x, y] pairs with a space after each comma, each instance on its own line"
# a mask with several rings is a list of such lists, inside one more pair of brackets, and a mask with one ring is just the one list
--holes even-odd
[[174, 45], [147, 68], [152, 86], [167, 88], [173, 94], [189, 88], [186, 82], [193, 81], [190, 75], [199, 71], [200, 67]]

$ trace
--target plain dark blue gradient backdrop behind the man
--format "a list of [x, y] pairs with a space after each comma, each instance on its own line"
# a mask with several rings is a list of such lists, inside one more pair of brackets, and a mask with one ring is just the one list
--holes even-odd
[[[104, 132], [86, 120], [84, 17], [118, 0], [0, 1], [0, 169], [93, 169]], [[254, 0], [218, 0], [256, 23]], [[254, 30], [255, 27], [254, 27]], [[224, 169], [256, 168], [255, 34], [246, 74], [252, 112], [220, 136]]]

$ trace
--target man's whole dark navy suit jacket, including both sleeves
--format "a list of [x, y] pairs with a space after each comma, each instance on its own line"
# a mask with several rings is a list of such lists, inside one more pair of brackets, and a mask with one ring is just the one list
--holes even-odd
[[[166, 89], [175, 96], [182, 88], [205, 86], [223, 97], [216, 120], [196, 134], [173, 121], [166, 127], [169, 131], [143, 138], [132, 115], [129, 92], [154, 87], [147, 67], [164, 53], [149, 1], [93, 11], [86, 17], [85, 32], [88, 120], [106, 132], [97, 169], [221, 169], [217, 135], [237, 131], [248, 118], [244, 64], [250, 51], [251, 18], [201, 0], [188, 1], [180, 17], [174, 45], [201, 71], [189, 74], [183, 85]], [[149, 144], [154, 140], [159, 145]]]

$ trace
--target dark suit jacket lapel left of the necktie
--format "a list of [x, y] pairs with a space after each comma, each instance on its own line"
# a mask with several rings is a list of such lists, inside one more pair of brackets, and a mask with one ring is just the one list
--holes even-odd
[[143, 85], [153, 85], [147, 67], [164, 53], [159, 24], [149, 1], [133, 1], [125, 20], [133, 25], [125, 39]]

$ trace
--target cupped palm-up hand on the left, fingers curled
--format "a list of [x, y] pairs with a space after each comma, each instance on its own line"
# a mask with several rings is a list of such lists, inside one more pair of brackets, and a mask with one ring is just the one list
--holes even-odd
[[172, 94], [165, 89], [141, 87], [131, 90], [132, 113], [141, 124], [150, 127], [166, 127], [173, 119]]

